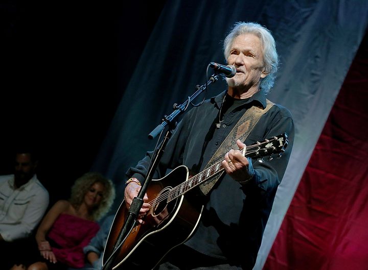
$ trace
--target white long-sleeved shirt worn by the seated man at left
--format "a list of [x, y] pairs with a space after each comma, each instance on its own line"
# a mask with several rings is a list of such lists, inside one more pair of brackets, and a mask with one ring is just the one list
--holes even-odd
[[5, 241], [28, 237], [49, 206], [49, 192], [34, 175], [14, 188], [14, 175], [0, 176], [0, 234]]

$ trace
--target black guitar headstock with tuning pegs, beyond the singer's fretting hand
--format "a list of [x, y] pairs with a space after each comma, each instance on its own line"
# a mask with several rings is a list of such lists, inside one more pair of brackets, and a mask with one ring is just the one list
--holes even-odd
[[279, 156], [281, 156], [281, 153], [285, 152], [287, 145], [287, 134], [283, 133], [263, 141], [257, 141], [247, 146], [245, 156], [250, 158], [262, 158], [269, 156], [271, 160], [272, 155], [274, 154], [279, 154]]

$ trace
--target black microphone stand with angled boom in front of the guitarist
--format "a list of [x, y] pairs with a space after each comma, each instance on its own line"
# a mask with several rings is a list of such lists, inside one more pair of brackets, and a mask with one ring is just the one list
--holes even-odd
[[177, 117], [183, 113], [189, 106], [189, 104], [204, 90], [206, 89], [206, 87], [208, 85], [210, 85], [211, 83], [215, 83], [218, 80], [218, 75], [214, 74], [210, 77], [210, 79], [208, 80], [208, 82], [206, 82], [206, 84], [201, 85], [201, 86], [196, 86], [197, 91], [194, 92], [194, 94], [192, 94], [191, 96], [188, 97], [188, 100], [185, 101], [183, 104], [181, 105], [177, 105], [174, 104], [173, 108], [174, 111], [169, 115], [165, 115], [164, 118], [162, 119], [162, 123], [160, 125], [158, 125], [153, 131], [151, 131], [151, 133], [148, 135], [149, 139], [153, 139], [154, 137], [156, 137], [159, 133], [163, 132], [164, 129], [167, 128], [165, 137], [163, 139], [163, 141], [160, 143], [160, 146], [157, 147], [154, 151], [152, 160], [153, 162], [150, 163], [150, 166], [147, 170], [147, 175], [146, 175], [146, 180], [144, 182], [144, 184], [141, 187], [140, 192], [138, 193], [137, 197], [134, 197], [132, 204], [130, 205], [130, 208], [128, 210], [128, 216], [125, 220], [125, 223], [122, 227], [122, 229], [120, 230], [119, 236], [114, 244], [113, 250], [112, 250], [112, 254], [110, 255], [110, 257], [107, 259], [106, 263], [103, 265], [103, 267], [101, 268], [101, 270], [111, 270], [113, 268], [112, 263], [114, 262], [114, 260], [116, 259], [116, 257], [119, 254], [119, 251], [121, 249], [121, 247], [123, 246], [123, 243], [125, 241], [125, 238], [129, 235], [130, 230], [128, 228], [133, 228], [134, 223], [136, 222], [136, 217], [139, 214], [140, 209], [142, 208], [143, 205], [143, 198], [144, 195], [146, 194], [147, 188], [149, 186], [149, 184], [151, 183], [153, 174], [158, 166], [158, 163], [160, 162], [160, 159], [162, 157], [162, 155], [165, 152], [165, 148], [166, 148], [166, 144], [169, 141], [171, 135], [172, 135], [172, 131], [175, 129], [176, 127], [176, 119]]

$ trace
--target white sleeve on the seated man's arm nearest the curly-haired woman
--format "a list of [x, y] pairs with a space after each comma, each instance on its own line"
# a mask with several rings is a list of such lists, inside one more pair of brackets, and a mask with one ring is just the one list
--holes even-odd
[[16, 225], [4, 225], [2, 236], [5, 241], [14, 241], [31, 235], [49, 206], [49, 192], [42, 190], [33, 195], [21, 222]]

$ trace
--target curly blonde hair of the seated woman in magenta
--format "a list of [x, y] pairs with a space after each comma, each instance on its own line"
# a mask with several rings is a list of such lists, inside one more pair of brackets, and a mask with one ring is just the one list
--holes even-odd
[[110, 179], [97, 172], [89, 172], [78, 178], [72, 186], [71, 198], [69, 202], [78, 209], [84, 200], [84, 196], [91, 186], [101, 183], [105, 186], [101, 203], [92, 213], [92, 218], [97, 221], [102, 218], [110, 209], [115, 199], [115, 187]]

